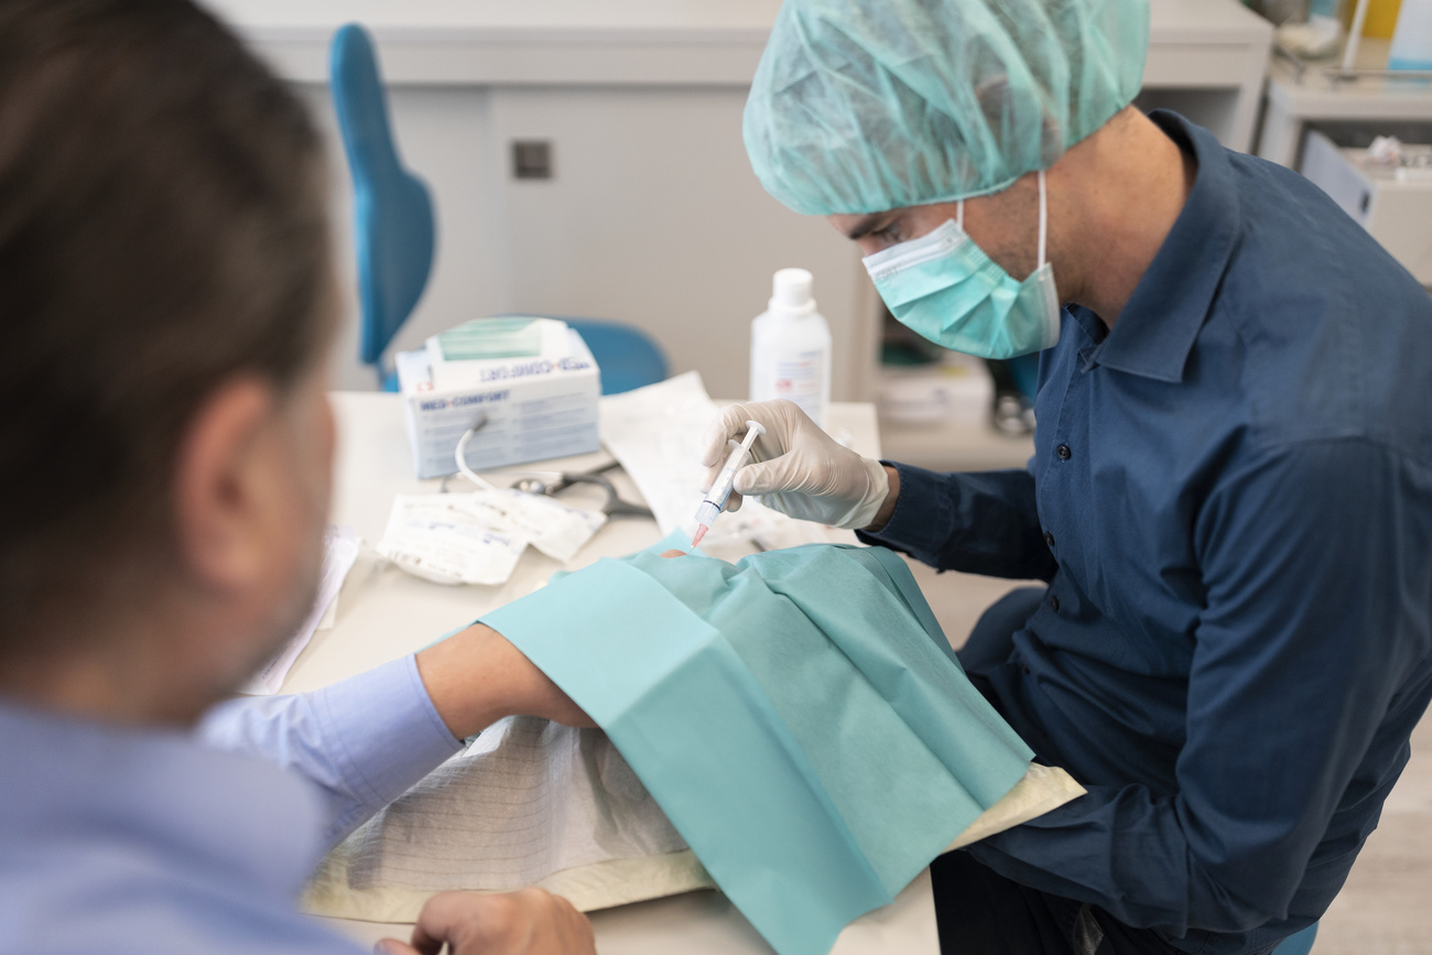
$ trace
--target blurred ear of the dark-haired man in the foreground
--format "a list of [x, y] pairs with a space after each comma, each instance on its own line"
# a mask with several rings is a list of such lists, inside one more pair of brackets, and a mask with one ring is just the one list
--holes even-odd
[[243, 587], [263, 573], [276, 412], [274, 388], [241, 377], [189, 421], [175, 465], [175, 544], [200, 586]]

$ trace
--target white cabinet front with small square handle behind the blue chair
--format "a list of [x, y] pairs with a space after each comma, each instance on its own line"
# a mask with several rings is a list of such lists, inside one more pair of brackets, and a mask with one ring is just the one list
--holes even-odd
[[[352, 192], [325, 87], [302, 84], [326, 130], [344, 288], [352, 279]], [[713, 395], [746, 394], [749, 321], [770, 275], [798, 265], [835, 339], [835, 397], [866, 387], [874, 302], [853, 246], [821, 219], [770, 199], [740, 140], [743, 87], [397, 86], [394, 133], [432, 189], [432, 278], [397, 338], [504, 311], [616, 318], [647, 329], [673, 372], [697, 369]], [[516, 180], [514, 139], [548, 139], [554, 178]], [[863, 299], [862, 299], [863, 296]], [[349, 302], [355, 312], [355, 302]], [[369, 388], [348, 328], [339, 388]]]

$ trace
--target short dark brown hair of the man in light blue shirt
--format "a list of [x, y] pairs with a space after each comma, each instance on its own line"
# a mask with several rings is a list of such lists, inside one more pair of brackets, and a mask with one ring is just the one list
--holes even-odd
[[0, 656], [169, 541], [185, 425], [325, 341], [319, 142], [185, 0], [0, 0]]

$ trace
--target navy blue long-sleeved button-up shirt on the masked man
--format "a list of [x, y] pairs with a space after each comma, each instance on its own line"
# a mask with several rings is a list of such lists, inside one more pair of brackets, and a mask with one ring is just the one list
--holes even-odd
[[1256, 952], [1342, 888], [1432, 696], [1432, 298], [1306, 179], [1197, 160], [1113, 331], [1070, 308], [1028, 470], [899, 465], [866, 540], [1050, 581], [988, 677], [1088, 795], [969, 848]]

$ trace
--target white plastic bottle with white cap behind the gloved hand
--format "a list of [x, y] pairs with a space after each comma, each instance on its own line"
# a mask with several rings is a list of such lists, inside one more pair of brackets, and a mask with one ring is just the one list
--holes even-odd
[[750, 399], [789, 398], [822, 428], [831, 405], [831, 326], [815, 311], [811, 273], [780, 269], [769, 308], [750, 322]]

